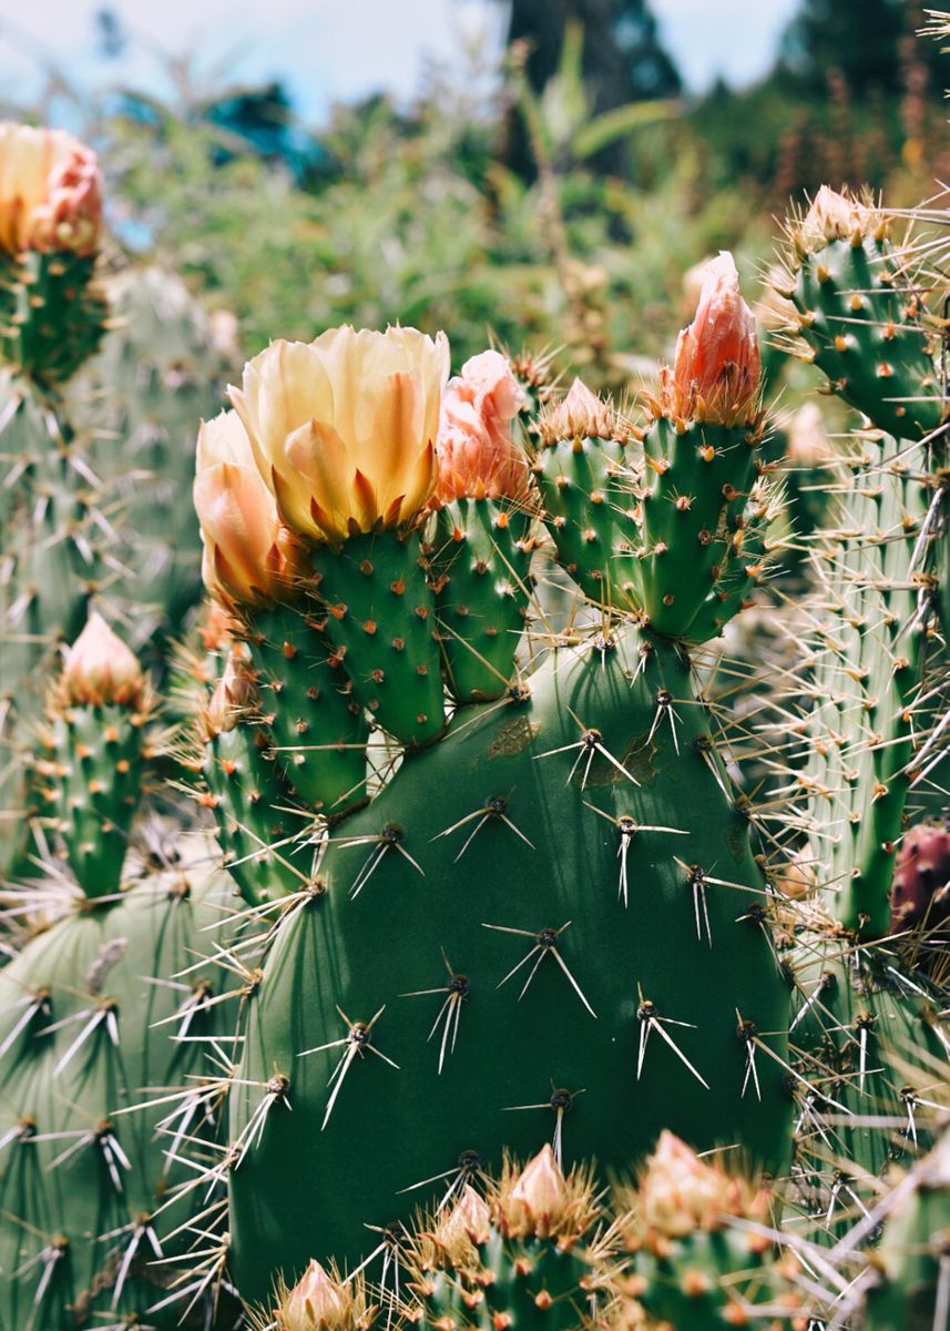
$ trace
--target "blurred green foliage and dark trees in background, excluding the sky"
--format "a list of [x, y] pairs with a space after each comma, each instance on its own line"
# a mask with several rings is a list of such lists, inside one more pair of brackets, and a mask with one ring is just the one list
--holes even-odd
[[[950, 170], [947, 80], [918, 4], [802, 0], [766, 77], [703, 97], [648, 0], [508, 13], [500, 63], [470, 49], [463, 77], [432, 68], [411, 105], [374, 96], [318, 128], [279, 84], [209, 87], [186, 59], [164, 102], [57, 75], [44, 104], [4, 109], [71, 101], [121, 252], [237, 315], [247, 351], [402, 321], [446, 327], [456, 363], [490, 335], [561, 347], [617, 391], [671, 349], [699, 261], [730, 248], [761, 274], [789, 198], [869, 182], [909, 205]], [[120, 17], [96, 23], [101, 52], [121, 53]]]

